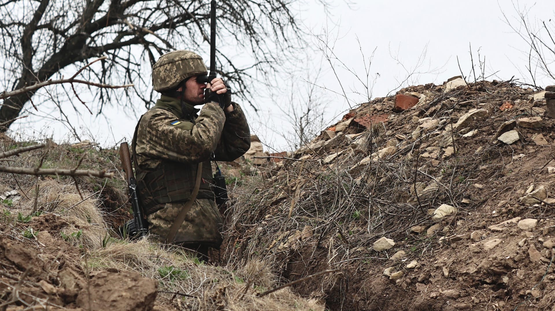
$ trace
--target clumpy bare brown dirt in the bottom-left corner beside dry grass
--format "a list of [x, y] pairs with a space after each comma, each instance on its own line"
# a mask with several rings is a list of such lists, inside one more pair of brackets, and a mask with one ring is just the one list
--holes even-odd
[[[134, 272], [84, 271], [82, 258], [87, 254], [53, 238], [70, 225], [62, 218], [47, 214], [34, 217], [29, 226], [15, 220], [4, 223], [10, 225], [0, 232], [0, 301], [7, 310], [153, 308], [157, 281]], [[16, 237], [19, 232], [23, 237]]]

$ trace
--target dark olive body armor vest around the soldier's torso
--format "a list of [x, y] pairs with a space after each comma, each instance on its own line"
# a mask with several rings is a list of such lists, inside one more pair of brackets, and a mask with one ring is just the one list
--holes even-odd
[[[164, 109], [158, 107], [158, 109]], [[141, 117], [142, 118], [142, 117]], [[165, 203], [188, 201], [195, 186], [198, 164], [184, 164], [170, 160], [160, 160], [160, 164], [152, 170], [139, 167], [135, 146], [140, 119], [133, 135], [132, 150], [137, 179], [137, 193], [145, 215], [150, 215], [164, 208]], [[210, 188], [212, 166], [210, 160], [203, 162], [202, 180], [196, 198], [214, 200], [214, 192]]]

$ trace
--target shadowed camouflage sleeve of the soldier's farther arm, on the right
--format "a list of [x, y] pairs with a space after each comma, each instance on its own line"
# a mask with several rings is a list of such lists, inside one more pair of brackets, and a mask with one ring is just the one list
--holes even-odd
[[214, 151], [217, 161], [233, 161], [250, 148], [250, 129], [243, 109], [233, 103], [234, 110], [226, 113], [224, 130]]

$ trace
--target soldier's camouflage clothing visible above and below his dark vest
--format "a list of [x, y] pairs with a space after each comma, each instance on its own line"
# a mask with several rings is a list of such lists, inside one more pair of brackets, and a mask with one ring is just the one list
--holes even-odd
[[[138, 166], [135, 170], [160, 170], [168, 162], [179, 162], [183, 170], [193, 173], [188, 176], [195, 176], [199, 162], [203, 162], [203, 168], [205, 165], [210, 167], [213, 152], [216, 161], [237, 159], [250, 147], [250, 131], [241, 107], [236, 103], [233, 106], [234, 111], [224, 113], [218, 104], [208, 103], [199, 112], [190, 104], [181, 107], [178, 99], [162, 96], [137, 126], [133, 146], [135, 165]], [[204, 181], [211, 180], [212, 176], [205, 176], [210, 172], [203, 170]], [[192, 185], [194, 182], [183, 183]], [[192, 191], [192, 186], [188, 191]], [[199, 193], [174, 241], [219, 247], [221, 216], [218, 208], [213, 199], [200, 197]], [[165, 203], [161, 210], [148, 216], [149, 230], [157, 234], [160, 241], [164, 240], [185, 202]]]

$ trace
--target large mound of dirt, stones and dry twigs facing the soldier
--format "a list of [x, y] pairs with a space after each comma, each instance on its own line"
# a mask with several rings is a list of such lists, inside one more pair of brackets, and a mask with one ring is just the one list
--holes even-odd
[[333, 310], [555, 308], [554, 120], [532, 89], [461, 80], [362, 104], [261, 169], [227, 256], [283, 282], [339, 269], [293, 285]]

